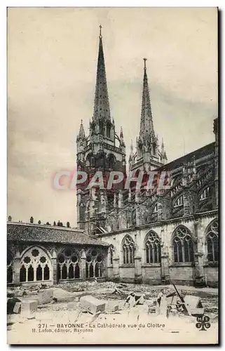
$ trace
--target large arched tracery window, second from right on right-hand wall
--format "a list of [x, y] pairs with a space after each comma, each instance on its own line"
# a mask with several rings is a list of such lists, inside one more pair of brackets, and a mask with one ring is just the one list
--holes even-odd
[[172, 236], [172, 248], [176, 263], [193, 262], [193, 240], [186, 227], [177, 227]]

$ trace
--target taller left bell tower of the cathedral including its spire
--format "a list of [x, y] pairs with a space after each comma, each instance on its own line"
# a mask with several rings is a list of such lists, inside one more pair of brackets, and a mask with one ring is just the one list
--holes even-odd
[[122, 187], [122, 184], [118, 184], [114, 189], [107, 190], [109, 173], [126, 171], [123, 130], [121, 128], [119, 135], [116, 133], [115, 122], [110, 112], [101, 25], [93, 117], [89, 123], [87, 137], [81, 121], [76, 146], [77, 168], [86, 171], [89, 180], [97, 171], [102, 172], [104, 177], [104, 189], [88, 189], [87, 185], [82, 184], [77, 186], [77, 225], [90, 235], [100, 234], [105, 232], [107, 213], [114, 208], [115, 202], [118, 202], [119, 190]]

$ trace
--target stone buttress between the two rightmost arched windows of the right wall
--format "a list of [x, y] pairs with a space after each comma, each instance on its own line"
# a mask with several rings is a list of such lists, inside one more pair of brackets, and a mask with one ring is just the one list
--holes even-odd
[[205, 286], [205, 275], [204, 275], [204, 254], [203, 254], [203, 237], [199, 230], [198, 220], [194, 223], [194, 239], [193, 239], [193, 249], [194, 249], [194, 274], [193, 274], [193, 285], [202, 288]]

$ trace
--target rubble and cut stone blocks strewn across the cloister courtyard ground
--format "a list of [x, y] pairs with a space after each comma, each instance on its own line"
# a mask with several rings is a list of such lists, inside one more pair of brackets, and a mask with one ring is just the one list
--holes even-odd
[[[13, 329], [14, 324], [24, 323], [29, 319], [41, 319], [43, 314], [55, 319], [61, 314], [66, 319], [71, 314], [76, 320], [108, 317], [117, 319], [122, 315], [129, 317], [131, 314], [137, 315], [137, 318], [140, 314], [147, 318], [157, 317], [161, 314], [157, 302], [161, 291], [167, 300], [166, 317], [194, 319], [193, 312], [201, 309], [210, 320], [217, 322], [217, 291], [198, 290], [191, 290], [189, 287], [181, 289], [180, 286], [176, 291], [172, 285], [149, 286], [95, 281], [66, 282], [54, 287], [45, 284], [11, 287], [7, 290], [8, 328]], [[200, 293], [205, 297], [200, 298]]]

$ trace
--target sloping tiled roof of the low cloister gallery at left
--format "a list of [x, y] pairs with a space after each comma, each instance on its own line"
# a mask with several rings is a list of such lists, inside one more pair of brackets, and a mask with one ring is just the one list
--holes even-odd
[[61, 244], [109, 246], [104, 241], [89, 237], [83, 230], [26, 223], [7, 223], [8, 241], [42, 241]]

